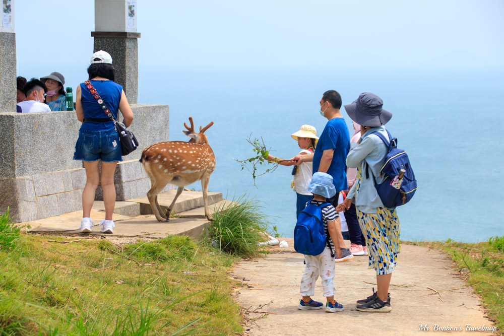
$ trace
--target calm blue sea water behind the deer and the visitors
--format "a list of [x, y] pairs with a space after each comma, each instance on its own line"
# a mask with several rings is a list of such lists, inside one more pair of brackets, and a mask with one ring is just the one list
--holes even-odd
[[[162, 74], [162, 76], [160, 76]], [[364, 71], [352, 69], [140, 69], [140, 103], [170, 106], [170, 140], [187, 140], [193, 116], [206, 131], [217, 168], [209, 190], [231, 199], [242, 193], [262, 201], [284, 237], [295, 225], [290, 167], [256, 179], [234, 159], [254, 156], [246, 138], [261, 138], [273, 155], [299, 151], [290, 134], [302, 124], [322, 132], [326, 90], [343, 104], [373, 92], [393, 113], [387, 128], [408, 152], [418, 180], [414, 198], [398, 208], [403, 240], [477, 242], [504, 235], [504, 70]], [[150, 88], [149, 91], [146, 88]], [[342, 108], [350, 131], [351, 121]], [[149, 144], [141, 144], [147, 146]], [[190, 188], [201, 190], [201, 184]]]

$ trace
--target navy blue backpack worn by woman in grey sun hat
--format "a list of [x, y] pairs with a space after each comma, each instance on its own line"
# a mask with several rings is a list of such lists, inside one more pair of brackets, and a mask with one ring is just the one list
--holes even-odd
[[[411, 168], [408, 154], [406, 154], [404, 150], [397, 148], [397, 139], [392, 138], [388, 130], [388, 140], [385, 139], [380, 132], [376, 131], [370, 134], [374, 134], [382, 139], [385, 145], [389, 148], [389, 152], [385, 156], [385, 164], [380, 170], [380, 176], [385, 176], [385, 180], [382, 183], [377, 184], [376, 180], [373, 179], [376, 191], [378, 192], [383, 205], [387, 208], [395, 208], [405, 205], [409, 202], [411, 197], [413, 197], [416, 191], [415, 174], [413, 173], [413, 168]], [[391, 182], [394, 177], [399, 175], [399, 171], [401, 169], [404, 169], [406, 172], [404, 173], [401, 187], [396, 189], [391, 185]], [[366, 178], [369, 178], [368, 171], [369, 169], [366, 169]]]

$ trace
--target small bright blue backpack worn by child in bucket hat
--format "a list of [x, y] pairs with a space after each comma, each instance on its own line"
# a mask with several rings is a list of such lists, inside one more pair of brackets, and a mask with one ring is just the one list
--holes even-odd
[[[320, 206], [309, 204], [299, 214], [294, 227], [294, 249], [297, 252], [319, 255], [326, 248], [328, 239], [322, 220], [322, 208], [328, 205], [331, 204], [323, 203]], [[331, 251], [331, 255], [334, 257], [333, 251]]]

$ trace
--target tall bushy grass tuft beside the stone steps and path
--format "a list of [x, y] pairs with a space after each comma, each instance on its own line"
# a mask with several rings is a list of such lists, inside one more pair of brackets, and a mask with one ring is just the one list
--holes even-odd
[[[264, 252], [258, 243], [265, 241], [264, 232], [271, 231], [269, 218], [263, 214], [261, 202], [241, 195], [218, 209], [208, 230], [208, 241], [222, 251], [242, 257], [255, 257]], [[273, 228], [275, 230], [275, 228]]]

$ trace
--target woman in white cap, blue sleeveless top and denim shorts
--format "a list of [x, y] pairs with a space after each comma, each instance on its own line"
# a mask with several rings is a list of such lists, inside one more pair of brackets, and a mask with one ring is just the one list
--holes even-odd
[[[122, 87], [114, 83], [115, 70], [108, 52], [100, 50], [91, 56], [88, 75], [91, 84], [112, 112], [114, 119], [117, 119], [120, 110], [125, 126], [129, 127], [133, 121], [133, 111]], [[84, 83], [81, 83], [76, 90], [75, 111], [82, 126], [75, 144], [74, 160], [82, 161], [86, 170], [86, 185], [82, 192], [83, 218], [79, 229], [81, 232], [92, 231], [91, 208], [96, 188], [101, 182], [105, 220], [100, 223], [102, 226], [100, 231], [112, 233], [115, 226], [112, 220], [115, 207], [114, 172], [117, 162], [122, 161], [119, 135], [114, 128], [114, 122], [104, 113]], [[101, 176], [98, 168], [100, 161]]]

